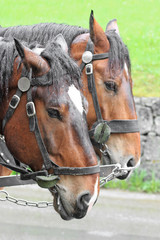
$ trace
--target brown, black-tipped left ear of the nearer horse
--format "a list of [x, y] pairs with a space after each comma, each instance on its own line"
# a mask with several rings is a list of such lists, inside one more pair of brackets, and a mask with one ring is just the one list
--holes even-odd
[[41, 56], [34, 53], [31, 49], [25, 47], [19, 40], [14, 38], [15, 46], [23, 64], [32, 68], [34, 75], [43, 75], [50, 70], [49, 64]]

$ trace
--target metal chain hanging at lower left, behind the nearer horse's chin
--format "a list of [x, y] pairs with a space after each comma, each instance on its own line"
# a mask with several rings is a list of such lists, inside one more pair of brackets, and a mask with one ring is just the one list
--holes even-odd
[[23, 199], [16, 199], [14, 197], [9, 196], [9, 194], [4, 190], [0, 190], [0, 201], [9, 201], [20, 206], [37, 207], [37, 208], [47, 208], [47, 207], [53, 206], [52, 202], [46, 202], [46, 201], [31, 202]]

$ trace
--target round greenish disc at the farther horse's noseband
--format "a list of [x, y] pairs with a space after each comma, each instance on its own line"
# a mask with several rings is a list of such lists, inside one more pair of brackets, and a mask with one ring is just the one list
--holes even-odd
[[106, 122], [99, 123], [95, 129], [93, 138], [97, 143], [104, 144], [111, 134], [111, 129]]

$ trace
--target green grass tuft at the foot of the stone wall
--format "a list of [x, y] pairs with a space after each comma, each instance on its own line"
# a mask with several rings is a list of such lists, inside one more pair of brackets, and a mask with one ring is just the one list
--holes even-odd
[[150, 179], [146, 179], [145, 170], [134, 171], [127, 180], [113, 180], [105, 184], [107, 189], [122, 189], [134, 192], [160, 193], [160, 180], [155, 178], [154, 173]]

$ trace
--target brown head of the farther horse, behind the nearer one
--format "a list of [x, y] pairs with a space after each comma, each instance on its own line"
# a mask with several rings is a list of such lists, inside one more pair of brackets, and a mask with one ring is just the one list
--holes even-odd
[[[87, 43], [89, 41], [91, 45], [90, 48], [89, 43]], [[83, 60], [84, 56], [82, 56], [82, 54], [86, 52], [86, 50], [88, 51], [88, 49], [92, 49], [92, 53], [95, 56], [90, 56], [89, 54], [85, 56]], [[89, 83], [86, 73], [87, 71], [92, 71], [91, 66], [89, 70], [86, 69], [86, 72], [83, 70], [82, 75], [84, 83], [83, 93], [89, 102], [87, 114], [89, 129], [92, 129], [95, 122], [97, 122], [97, 105], [99, 105], [100, 121], [114, 121], [114, 123], [117, 121], [117, 125], [119, 124], [118, 121], [131, 120], [131, 123], [132, 121], [134, 122], [134, 120], [137, 119], [137, 115], [132, 94], [131, 64], [127, 47], [120, 38], [116, 20], [110, 21], [107, 25], [106, 32], [104, 32], [95, 20], [93, 12], [91, 12], [90, 35], [86, 33], [80, 37], [76, 37], [72, 44], [71, 54], [79, 64], [81, 64], [82, 59], [84, 63], [85, 61], [89, 62], [86, 66], [89, 67], [90, 63], [92, 63], [93, 66], [98, 104], [94, 103], [94, 97], [91, 94], [93, 90], [88, 90]], [[120, 163], [122, 168], [128, 167], [128, 169], [129, 167], [134, 167], [139, 164], [140, 133], [138, 130], [130, 132], [130, 129], [128, 129], [128, 131], [124, 133], [122, 129], [122, 132], [112, 133], [111, 129], [111, 135], [109, 139], [107, 139], [106, 144], [107, 154], [103, 156], [104, 164]], [[101, 155], [97, 147], [95, 147], [95, 150], [98, 155]], [[123, 172], [119, 178], [125, 179], [129, 172], [130, 171]]]

